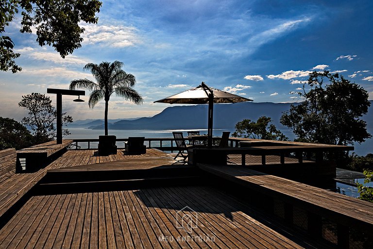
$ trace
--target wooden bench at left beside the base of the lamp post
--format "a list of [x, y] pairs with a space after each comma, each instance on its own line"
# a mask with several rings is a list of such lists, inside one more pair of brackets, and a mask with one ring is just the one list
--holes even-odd
[[35, 172], [44, 168], [51, 161], [67, 151], [73, 140], [63, 140], [61, 144], [56, 141], [45, 142], [17, 151], [17, 173]]

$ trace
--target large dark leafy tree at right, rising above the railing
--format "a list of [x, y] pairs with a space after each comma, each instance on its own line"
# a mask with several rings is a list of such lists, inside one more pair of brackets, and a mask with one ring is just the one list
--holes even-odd
[[370, 102], [359, 85], [338, 73], [314, 71], [298, 94], [305, 101], [291, 105], [280, 119], [297, 136], [295, 141], [347, 145], [372, 137], [360, 119]]

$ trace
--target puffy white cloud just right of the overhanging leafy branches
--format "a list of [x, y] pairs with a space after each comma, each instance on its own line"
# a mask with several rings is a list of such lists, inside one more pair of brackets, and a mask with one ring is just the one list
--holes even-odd
[[127, 27], [124, 25], [81, 25], [85, 28], [82, 35], [83, 42], [88, 44], [102, 44], [117, 48], [134, 46], [142, 43], [141, 39], [136, 35], [136, 28]]

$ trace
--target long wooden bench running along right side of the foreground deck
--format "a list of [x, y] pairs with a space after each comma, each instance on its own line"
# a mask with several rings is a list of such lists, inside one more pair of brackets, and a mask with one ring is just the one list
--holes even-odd
[[[242, 166], [208, 164], [197, 164], [197, 166], [220, 179], [224, 178], [244, 186], [245, 188], [235, 189], [242, 198], [256, 192], [261, 196], [267, 196], [264, 199], [269, 197], [272, 200], [276, 198], [284, 201], [284, 218], [289, 223], [293, 222], [294, 207], [304, 210], [307, 213], [307, 230], [315, 237], [322, 236], [322, 217], [333, 221], [338, 228], [339, 248], [348, 248], [350, 228], [373, 236], [373, 203]], [[218, 181], [219, 184], [223, 184], [221, 180]], [[273, 206], [271, 210], [273, 212]]]

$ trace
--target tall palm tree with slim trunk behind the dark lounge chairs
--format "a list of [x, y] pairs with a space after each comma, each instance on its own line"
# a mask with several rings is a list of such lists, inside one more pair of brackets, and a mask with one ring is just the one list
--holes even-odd
[[89, 94], [88, 106], [93, 108], [100, 100], [105, 100], [105, 135], [107, 135], [107, 111], [111, 94], [115, 92], [126, 100], [133, 101], [136, 105], [143, 103], [141, 95], [132, 87], [136, 84], [136, 78], [131, 73], [126, 73], [121, 68], [122, 62], [113, 63], [103, 61], [99, 65], [88, 63], [83, 70], [90, 71], [97, 83], [88, 79], [77, 79], [70, 83], [70, 89], [83, 88], [92, 91]]

